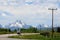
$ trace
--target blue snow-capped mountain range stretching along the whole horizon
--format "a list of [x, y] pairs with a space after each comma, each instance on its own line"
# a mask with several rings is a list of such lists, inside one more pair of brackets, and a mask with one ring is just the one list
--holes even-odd
[[[30, 27], [33, 27], [33, 26], [32, 25], [27, 25], [21, 20], [17, 20], [15, 22], [10, 23], [10, 24], [5, 25], [5, 26], [0, 24], [0, 28], [7, 28], [7, 29], [11, 29], [11, 30], [15, 30], [15, 29], [18, 30], [20, 28], [28, 29]], [[51, 30], [52, 29], [51, 27], [49, 27], [48, 25], [45, 25], [45, 24], [43, 24], [43, 25], [39, 24], [38, 26], [36, 26], [36, 28], [39, 29], [39, 30], [40, 29], [41, 30], [45, 30], [45, 29]], [[54, 29], [56, 29], [56, 27], [54, 27]]]

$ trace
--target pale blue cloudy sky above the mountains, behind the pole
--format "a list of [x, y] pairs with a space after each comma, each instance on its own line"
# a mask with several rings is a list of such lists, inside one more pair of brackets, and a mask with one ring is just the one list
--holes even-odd
[[0, 24], [22, 20], [28, 25], [51, 25], [54, 11], [54, 25], [60, 25], [60, 0], [0, 0]]

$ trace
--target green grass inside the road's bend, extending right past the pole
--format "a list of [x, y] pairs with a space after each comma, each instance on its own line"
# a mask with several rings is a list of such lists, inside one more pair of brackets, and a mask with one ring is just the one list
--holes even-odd
[[54, 37], [46, 37], [42, 36], [40, 34], [36, 35], [16, 35], [16, 36], [10, 36], [9, 38], [18, 38], [18, 39], [37, 39], [37, 40], [60, 40], [60, 33], [54, 33]]

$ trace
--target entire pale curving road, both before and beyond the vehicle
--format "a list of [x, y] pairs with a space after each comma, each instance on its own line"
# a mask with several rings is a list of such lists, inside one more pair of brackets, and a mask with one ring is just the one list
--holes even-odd
[[[32, 34], [38, 34], [38, 33], [22, 33], [21, 35], [32, 35]], [[0, 35], [0, 40], [34, 40], [34, 39], [14, 39], [14, 38], [8, 38], [8, 36], [15, 36], [17, 34], [4, 34]]]

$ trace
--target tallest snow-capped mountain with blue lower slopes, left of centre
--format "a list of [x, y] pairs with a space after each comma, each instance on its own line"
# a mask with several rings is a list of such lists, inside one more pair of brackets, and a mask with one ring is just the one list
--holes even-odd
[[8, 24], [8, 25], [5, 26], [5, 28], [9, 28], [11, 30], [15, 30], [15, 29], [19, 29], [19, 28], [25, 28], [25, 29], [27, 29], [29, 27], [30, 27], [30, 25], [25, 24], [21, 20], [17, 20], [16, 22], [10, 23], [10, 24]]

